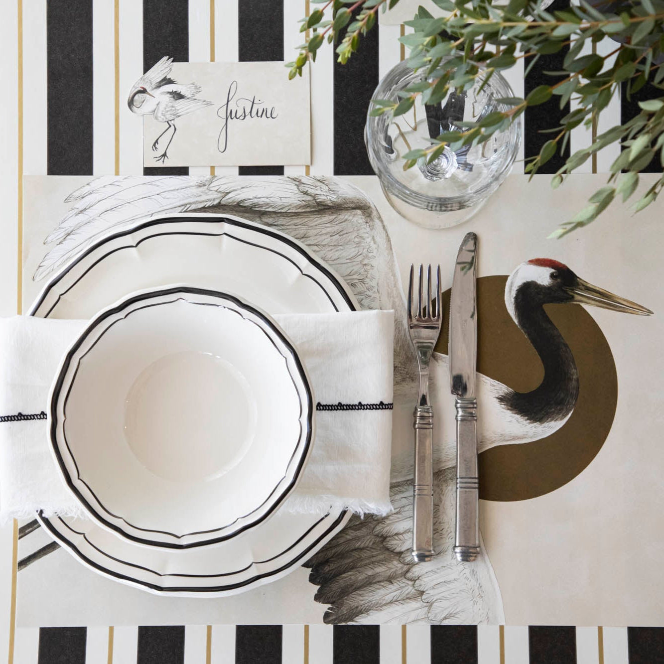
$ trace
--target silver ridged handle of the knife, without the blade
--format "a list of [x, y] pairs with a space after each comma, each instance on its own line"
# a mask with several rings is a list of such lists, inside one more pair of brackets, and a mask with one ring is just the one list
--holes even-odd
[[477, 479], [477, 400], [457, 397], [457, 490], [454, 554], [461, 562], [479, 554], [479, 480]]

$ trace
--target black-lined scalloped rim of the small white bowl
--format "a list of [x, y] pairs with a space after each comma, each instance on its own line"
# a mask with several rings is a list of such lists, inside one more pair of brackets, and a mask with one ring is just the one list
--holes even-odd
[[[178, 294], [181, 294], [181, 293], [190, 293], [190, 294], [193, 294], [193, 295], [203, 295], [203, 296], [206, 296], [206, 297], [213, 297], [213, 298], [218, 298], [218, 299], [230, 300], [235, 305], [237, 305], [238, 307], [247, 309], [248, 311], [250, 311], [250, 313], [252, 313], [256, 317], [258, 317], [262, 321], [264, 321], [264, 323], [266, 323], [266, 325], [268, 325], [268, 327], [270, 327], [274, 331], [274, 333], [280, 338], [280, 340], [282, 341], [282, 343], [284, 344], [284, 346], [286, 347], [288, 352], [291, 354], [293, 362], [296, 365], [297, 372], [299, 374], [299, 378], [300, 378], [301, 383], [303, 384], [303, 387], [304, 387], [305, 392], [306, 392], [306, 398], [307, 398], [308, 406], [307, 406], [307, 428], [306, 428], [306, 432], [305, 432], [305, 443], [303, 445], [303, 450], [301, 451], [301, 456], [299, 458], [297, 466], [295, 467], [295, 473], [294, 473], [293, 477], [291, 478], [290, 482], [288, 483], [288, 485], [284, 488], [282, 493], [280, 493], [280, 496], [275, 501], [275, 503], [270, 506], [270, 509], [268, 509], [266, 511], [266, 513], [264, 513], [260, 518], [256, 519], [256, 521], [252, 521], [252, 522], [250, 522], [246, 525], [243, 525], [242, 527], [232, 531], [231, 533], [227, 533], [226, 535], [219, 535], [218, 537], [205, 539], [205, 540], [201, 540], [201, 541], [197, 541], [197, 542], [176, 544], [175, 542], [160, 542], [160, 541], [155, 541], [155, 540], [151, 540], [151, 539], [147, 539], [147, 538], [143, 538], [143, 537], [137, 537], [136, 535], [130, 535], [129, 533], [124, 531], [120, 526], [118, 526], [114, 523], [110, 523], [109, 521], [104, 519], [104, 517], [102, 517], [102, 515], [100, 515], [98, 513], [98, 510], [94, 509], [92, 507], [92, 505], [90, 505], [90, 503], [88, 502], [86, 497], [84, 497], [82, 495], [82, 493], [80, 493], [80, 490], [78, 489], [78, 487], [76, 487], [76, 485], [74, 485], [74, 482], [72, 481], [72, 478], [71, 478], [71, 475], [68, 471], [68, 468], [66, 467], [66, 464], [64, 463], [64, 459], [62, 459], [62, 455], [60, 454], [60, 450], [59, 450], [59, 447], [58, 447], [58, 438], [57, 438], [57, 429], [58, 429], [57, 403], [60, 400], [60, 393], [62, 392], [62, 387], [63, 387], [64, 382], [65, 382], [66, 374], [68, 373], [69, 367], [72, 364], [72, 359], [74, 359], [74, 355], [76, 355], [76, 352], [78, 351], [78, 349], [80, 348], [82, 343], [85, 341], [85, 339], [88, 337], [88, 335], [90, 335], [90, 333], [94, 332], [96, 327], [101, 325], [106, 319], [108, 319], [110, 317], [114, 317], [114, 316], [122, 313], [122, 311], [124, 311], [128, 307], [131, 307], [135, 303], [145, 301], [146, 299], [155, 299], [155, 298], [158, 298], [158, 297], [168, 297], [169, 295], [178, 295]], [[172, 300], [172, 301], [177, 301], [177, 299], [180, 299], [180, 298], [176, 298], [175, 300]], [[147, 308], [147, 307], [159, 306], [159, 305], [163, 305], [163, 304], [166, 304], [166, 302], [146, 304], [143, 307], [137, 307], [136, 309], [132, 309], [132, 311], [139, 311], [140, 309], [144, 309], [144, 308]], [[197, 303], [197, 304], [203, 304], [203, 303]], [[206, 306], [218, 306], [215, 303], [207, 303], [205, 305]], [[128, 313], [131, 313], [131, 311], [128, 312]], [[128, 315], [128, 313], [127, 313], [127, 315]], [[111, 325], [106, 327], [106, 329], [104, 329], [104, 331], [94, 341], [94, 343], [92, 344], [90, 349], [88, 349], [88, 351], [86, 351], [86, 354], [89, 353], [92, 350], [92, 348], [94, 348], [96, 343], [98, 343], [98, 341], [100, 341], [100, 339], [102, 339], [104, 334], [109, 329], [111, 329], [111, 327], [113, 325], [115, 325], [115, 323], [118, 323], [121, 320], [124, 320], [124, 317], [118, 318], [116, 321], [113, 321], [113, 323]], [[268, 336], [268, 335], [266, 335], [266, 336]], [[270, 339], [269, 336], [268, 336], [268, 339]], [[270, 341], [274, 345], [274, 341], [272, 339], [270, 339]], [[275, 345], [275, 347], [276, 347], [276, 345]], [[279, 349], [277, 349], [277, 350], [279, 350]], [[80, 360], [83, 357], [85, 357], [85, 355], [80, 357], [78, 359], [78, 362], [80, 362]], [[282, 355], [282, 357], [284, 357], [284, 356]], [[76, 373], [78, 373], [78, 365], [77, 365], [76, 369], [74, 370], [74, 375], [70, 378], [70, 380], [68, 382], [68, 390], [67, 390], [66, 394], [64, 395], [64, 402], [62, 404], [63, 414], [64, 414], [64, 410], [66, 409], [67, 400], [70, 396], [70, 391], [71, 391], [72, 386], [74, 384], [74, 379], [76, 378]], [[295, 392], [297, 392], [297, 394], [299, 395], [299, 390], [297, 390], [297, 386], [295, 385], [295, 380], [293, 379], [293, 376], [290, 374], [290, 371], [289, 371], [289, 376], [290, 376], [291, 380], [293, 381], [293, 385], [295, 386]], [[300, 408], [301, 408], [301, 400], [300, 400]], [[149, 291], [147, 293], [141, 293], [139, 295], [133, 295], [131, 297], [128, 297], [127, 299], [124, 299], [123, 301], [118, 303], [118, 305], [116, 305], [112, 309], [107, 309], [101, 315], [99, 315], [98, 317], [93, 319], [90, 322], [90, 324], [86, 327], [86, 329], [82, 333], [80, 333], [80, 335], [79, 335], [78, 339], [76, 339], [76, 342], [74, 343], [74, 345], [72, 345], [72, 347], [70, 347], [70, 349], [67, 351], [67, 354], [64, 358], [64, 361], [63, 361], [63, 363], [60, 367], [60, 373], [58, 374], [58, 377], [56, 378], [56, 382], [54, 383], [54, 386], [53, 386], [52, 396], [51, 396], [50, 404], [49, 404], [49, 410], [50, 410], [50, 429], [49, 429], [49, 433], [50, 433], [51, 447], [52, 447], [52, 450], [54, 451], [54, 454], [55, 454], [56, 459], [58, 461], [58, 465], [60, 466], [60, 471], [62, 472], [63, 479], [64, 479], [66, 485], [69, 487], [70, 491], [72, 491], [72, 493], [74, 493], [76, 498], [86, 507], [86, 509], [90, 513], [96, 515], [96, 519], [98, 519], [106, 527], [112, 529], [113, 531], [116, 531], [116, 533], [118, 533], [122, 537], [124, 537], [126, 539], [133, 540], [133, 541], [138, 542], [140, 544], [148, 544], [149, 546], [159, 546], [159, 547], [163, 547], [163, 548], [175, 548], [175, 549], [193, 548], [195, 546], [205, 546], [207, 544], [216, 544], [218, 542], [223, 542], [224, 540], [227, 540], [227, 539], [230, 539], [232, 537], [236, 537], [237, 535], [240, 535], [240, 533], [243, 533], [244, 531], [246, 531], [250, 528], [256, 527], [257, 525], [262, 523], [265, 519], [267, 519], [270, 515], [272, 515], [272, 513], [278, 507], [280, 507], [280, 505], [283, 504], [286, 497], [288, 497], [288, 494], [295, 487], [295, 483], [297, 482], [297, 479], [299, 478], [299, 475], [302, 471], [303, 465], [304, 465], [304, 463], [305, 463], [305, 461], [306, 461], [306, 459], [309, 455], [309, 451], [310, 451], [310, 448], [311, 448], [311, 434], [312, 434], [312, 430], [313, 430], [313, 395], [311, 394], [311, 386], [309, 385], [309, 382], [307, 380], [304, 368], [301, 364], [299, 356], [297, 355], [297, 351], [295, 351], [295, 349], [293, 348], [291, 343], [288, 341], [288, 339], [286, 339], [286, 336], [284, 335], [284, 333], [282, 333], [274, 325], [274, 323], [272, 323], [272, 321], [270, 321], [270, 319], [268, 317], [266, 317], [266, 315], [264, 315], [262, 312], [258, 311], [254, 307], [252, 307], [252, 305], [250, 305], [248, 303], [244, 303], [238, 297], [236, 297], [234, 295], [230, 295], [228, 293], [223, 293], [222, 291], [214, 291], [214, 290], [203, 289], [203, 288], [194, 288], [194, 287], [191, 287], [191, 286], [176, 286], [176, 287], [173, 287], [173, 288], [153, 290], [153, 291]], [[301, 413], [300, 413], [299, 422], [300, 422], [300, 426], [301, 426]], [[98, 503], [98, 505], [106, 513], [108, 513], [108, 515], [111, 515], [115, 519], [120, 519], [120, 520], [124, 521], [124, 523], [127, 523], [127, 525], [129, 525], [131, 528], [134, 528], [136, 530], [145, 531], [145, 532], [160, 533], [160, 534], [163, 534], [163, 535], [171, 535], [172, 537], [175, 537], [177, 539], [180, 539], [181, 537], [193, 537], [194, 535], [205, 535], [208, 532], [214, 532], [215, 530], [217, 530], [217, 529], [214, 529], [212, 531], [196, 531], [196, 532], [193, 532], [193, 533], [186, 533], [185, 535], [178, 536], [178, 535], [175, 535], [174, 533], [168, 533], [167, 531], [157, 531], [157, 530], [149, 530], [149, 529], [139, 528], [139, 527], [129, 523], [128, 521], [126, 521], [126, 519], [124, 519], [120, 515], [116, 515], [116, 514], [112, 513], [100, 501], [100, 499], [98, 498], [96, 493], [94, 493], [94, 491], [92, 490], [90, 485], [88, 485], [88, 483], [86, 483], [86, 481], [84, 479], [82, 479], [82, 477], [80, 477], [80, 471], [78, 469], [78, 464], [76, 463], [76, 459], [75, 459], [74, 455], [72, 454], [72, 451], [69, 447], [68, 441], [67, 441], [66, 436], [64, 434], [64, 418], [62, 420], [62, 424], [63, 424], [62, 438], [64, 439], [64, 444], [67, 448], [67, 451], [70, 455], [70, 458], [72, 459], [72, 462], [74, 463], [74, 467], [76, 468], [76, 475], [78, 477], [78, 480], [80, 482], [82, 482], [88, 488], [88, 491], [90, 491], [90, 493], [94, 497], [95, 501]], [[302, 436], [302, 431], [300, 430], [299, 441], [301, 441], [301, 436]], [[298, 445], [295, 448], [295, 451], [293, 452], [293, 455], [291, 456], [291, 460], [292, 460], [293, 456], [295, 456], [295, 453], [298, 451], [299, 448], [300, 448], [300, 446], [299, 446], [299, 442], [298, 442]], [[282, 478], [282, 479], [284, 479], [284, 478]], [[280, 481], [282, 481], [282, 480], [280, 480]], [[275, 489], [273, 489], [272, 493], [274, 493], [274, 491], [276, 491], [276, 490], [277, 490], [277, 487], [275, 487]], [[272, 495], [272, 493], [270, 495]], [[268, 497], [268, 499], [269, 499], [269, 497]], [[266, 499], [266, 501], [264, 501], [264, 503], [262, 503], [262, 505], [264, 505], [265, 502], [267, 502], [268, 499]], [[260, 507], [262, 507], [262, 505], [260, 505], [259, 508], [256, 508], [256, 509], [260, 509]], [[238, 517], [238, 519], [244, 519], [247, 516], [248, 515], [244, 515], [243, 517]], [[235, 523], [235, 522], [233, 522], [233, 523]], [[232, 526], [232, 523], [224, 525], [224, 526], [222, 526], [222, 528], [226, 528], [226, 527], [230, 527], [230, 526]]]

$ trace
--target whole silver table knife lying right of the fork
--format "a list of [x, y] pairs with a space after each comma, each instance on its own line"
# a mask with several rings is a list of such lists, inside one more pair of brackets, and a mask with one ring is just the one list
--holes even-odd
[[457, 560], [475, 560], [479, 554], [479, 482], [477, 480], [477, 309], [475, 274], [477, 235], [467, 233], [457, 254], [450, 297], [450, 383], [456, 396]]

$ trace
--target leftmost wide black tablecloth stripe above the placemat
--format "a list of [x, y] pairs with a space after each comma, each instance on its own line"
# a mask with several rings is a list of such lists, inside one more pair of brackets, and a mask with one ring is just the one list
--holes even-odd
[[46, 76], [47, 173], [92, 175], [92, 0], [46, 3]]

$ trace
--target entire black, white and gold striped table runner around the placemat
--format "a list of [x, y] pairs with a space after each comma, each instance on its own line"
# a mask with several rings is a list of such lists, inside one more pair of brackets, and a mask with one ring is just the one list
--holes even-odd
[[[556, 0], [554, 9], [567, 0]], [[21, 310], [23, 175], [214, 174], [212, 168], [143, 168], [141, 122], [125, 108], [127, 92], [161, 56], [177, 61], [288, 60], [301, 41], [297, 19], [309, 0], [7, 0], [0, 21], [0, 187], [6, 218], [0, 264], [0, 311]], [[397, 38], [407, 29], [381, 25], [347, 66], [321, 48], [311, 70], [311, 167], [224, 167], [216, 174], [373, 175], [363, 128], [378, 80], [404, 58]], [[610, 44], [600, 44], [609, 52]], [[602, 49], [609, 49], [602, 51]], [[564, 51], [523, 76], [523, 60], [507, 76], [517, 96], [557, 70]], [[284, 76], [286, 70], [284, 70]], [[286, 85], [287, 82], [285, 81]], [[647, 95], [647, 89], [639, 98]], [[638, 112], [636, 102], [612, 101], [597, 131]], [[539, 152], [539, 133], [566, 114], [557, 100], [525, 113], [521, 157]], [[575, 129], [569, 151], [591, 140]], [[618, 155], [610, 146], [581, 171], [603, 172]], [[542, 169], [553, 172], [566, 155]], [[522, 169], [517, 163], [515, 169]], [[653, 163], [651, 169], [659, 169]], [[18, 251], [16, 248], [18, 247]], [[3, 272], [3, 275], [5, 273]], [[18, 299], [15, 299], [17, 293]], [[16, 537], [16, 536], [15, 536]], [[14, 583], [16, 582], [14, 568]], [[19, 590], [20, 592], [20, 590]], [[588, 664], [664, 662], [664, 630], [642, 627], [428, 627], [325, 625], [197, 625], [175, 627], [15, 627], [15, 664], [277, 663], [437, 664], [474, 662]], [[10, 653], [11, 661], [11, 653]]]

